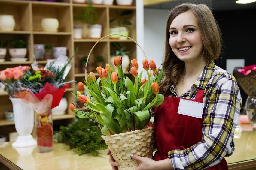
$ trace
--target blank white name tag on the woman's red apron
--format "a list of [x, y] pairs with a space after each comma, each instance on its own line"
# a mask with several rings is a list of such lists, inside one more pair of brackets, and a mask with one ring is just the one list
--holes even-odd
[[178, 114], [202, 118], [203, 107], [203, 103], [180, 99]]

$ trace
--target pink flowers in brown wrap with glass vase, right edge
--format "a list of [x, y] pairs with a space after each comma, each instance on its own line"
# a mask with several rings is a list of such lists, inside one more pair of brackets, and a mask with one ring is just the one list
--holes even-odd
[[248, 95], [245, 102], [245, 111], [253, 129], [256, 130], [256, 65], [235, 68], [233, 75]]

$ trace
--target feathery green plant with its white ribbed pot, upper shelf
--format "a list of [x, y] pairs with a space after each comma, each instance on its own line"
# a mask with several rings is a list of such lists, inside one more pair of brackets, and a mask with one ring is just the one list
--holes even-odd
[[96, 21], [99, 19], [99, 13], [95, 10], [93, 5], [89, 3], [86, 8], [78, 9], [78, 12], [80, 15], [74, 15], [74, 20], [89, 24], [89, 38], [101, 38], [102, 25], [96, 24]]

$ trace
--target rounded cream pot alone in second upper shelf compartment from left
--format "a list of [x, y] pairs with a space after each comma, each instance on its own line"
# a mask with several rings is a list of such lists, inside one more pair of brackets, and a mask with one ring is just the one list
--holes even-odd
[[43, 18], [41, 27], [47, 32], [57, 32], [59, 28], [59, 21], [56, 18]]

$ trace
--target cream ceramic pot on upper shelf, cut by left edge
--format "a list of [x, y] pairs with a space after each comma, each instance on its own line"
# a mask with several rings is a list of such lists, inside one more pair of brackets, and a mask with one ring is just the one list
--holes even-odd
[[15, 20], [13, 15], [0, 15], [0, 31], [13, 31]]

